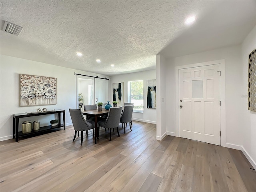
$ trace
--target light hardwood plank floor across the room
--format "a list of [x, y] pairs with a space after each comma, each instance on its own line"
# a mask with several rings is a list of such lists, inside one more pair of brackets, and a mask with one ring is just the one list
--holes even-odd
[[[120, 124], [121, 125], [121, 124]], [[166, 136], [133, 122], [120, 136], [92, 131], [72, 142], [68, 126], [50, 134], [0, 142], [1, 192], [256, 192], [256, 172], [241, 151]]]

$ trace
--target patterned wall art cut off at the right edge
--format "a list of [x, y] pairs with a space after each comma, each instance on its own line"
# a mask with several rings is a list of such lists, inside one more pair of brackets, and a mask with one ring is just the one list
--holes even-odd
[[256, 112], [256, 49], [249, 54], [248, 110]]

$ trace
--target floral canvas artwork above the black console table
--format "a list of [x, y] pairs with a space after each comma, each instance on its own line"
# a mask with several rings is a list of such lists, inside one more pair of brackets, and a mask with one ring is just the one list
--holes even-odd
[[57, 78], [20, 74], [20, 106], [56, 104]]

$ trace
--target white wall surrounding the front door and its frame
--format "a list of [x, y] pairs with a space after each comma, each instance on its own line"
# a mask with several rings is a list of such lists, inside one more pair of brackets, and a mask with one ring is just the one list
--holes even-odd
[[[241, 148], [242, 146], [242, 124], [240, 110], [241, 93], [237, 87], [241, 85], [241, 46], [232, 46], [200, 52], [197, 54], [181, 56], [169, 59], [166, 66], [166, 106], [175, 106], [175, 66], [195, 64], [214, 60], [226, 60], [226, 144], [232, 148]], [[175, 120], [175, 108], [166, 111], [168, 122]], [[175, 133], [175, 126], [168, 126], [167, 132]]]

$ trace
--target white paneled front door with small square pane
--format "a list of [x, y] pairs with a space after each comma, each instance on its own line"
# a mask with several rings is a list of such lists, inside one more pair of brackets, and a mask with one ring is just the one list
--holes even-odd
[[220, 145], [220, 65], [179, 70], [179, 136]]

